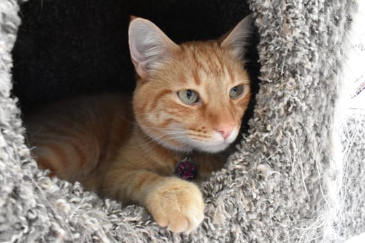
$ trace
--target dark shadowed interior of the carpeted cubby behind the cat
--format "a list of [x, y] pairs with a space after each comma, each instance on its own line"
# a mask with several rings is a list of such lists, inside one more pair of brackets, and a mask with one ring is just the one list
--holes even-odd
[[[23, 111], [78, 94], [131, 91], [129, 16], [154, 22], [175, 42], [219, 37], [250, 13], [245, 1], [30, 0], [13, 49], [13, 94]], [[247, 53], [252, 91], [259, 88], [257, 35]], [[252, 115], [254, 97], [243, 118]]]

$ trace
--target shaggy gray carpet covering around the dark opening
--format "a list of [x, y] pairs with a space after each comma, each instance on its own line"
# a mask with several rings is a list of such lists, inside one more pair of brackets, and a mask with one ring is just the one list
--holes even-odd
[[10, 95], [18, 3], [0, 1], [0, 242], [342, 242], [365, 231], [365, 119], [334, 126], [356, 1], [248, 1], [257, 106], [236, 153], [202, 184], [206, 216], [191, 235], [37, 168]]

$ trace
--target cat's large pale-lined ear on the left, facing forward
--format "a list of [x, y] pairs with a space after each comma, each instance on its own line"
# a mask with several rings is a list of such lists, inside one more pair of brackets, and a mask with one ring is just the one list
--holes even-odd
[[141, 78], [147, 78], [173, 51], [180, 49], [159, 27], [140, 17], [131, 17], [128, 35], [131, 59]]

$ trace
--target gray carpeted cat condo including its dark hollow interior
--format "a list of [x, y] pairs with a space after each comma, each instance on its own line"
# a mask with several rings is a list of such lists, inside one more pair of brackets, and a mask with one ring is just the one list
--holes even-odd
[[[365, 126], [355, 124], [365, 121], [353, 116], [345, 126], [337, 119], [356, 6], [0, 1], [0, 241], [340, 242], [364, 232]], [[171, 233], [140, 206], [122, 208], [38, 169], [22, 112], [76, 94], [133, 90], [129, 15], [183, 42], [216, 38], [250, 12], [257, 27], [249, 62], [256, 102], [227, 164], [201, 185], [205, 217], [193, 233]]]

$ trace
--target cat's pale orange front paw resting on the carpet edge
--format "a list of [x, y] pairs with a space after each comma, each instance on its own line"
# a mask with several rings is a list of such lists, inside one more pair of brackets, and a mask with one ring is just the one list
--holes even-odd
[[179, 178], [166, 178], [149, 193], [147, 210], [161, 227], [190, 233], [204, 219], [204, 201], [199, 188]]

